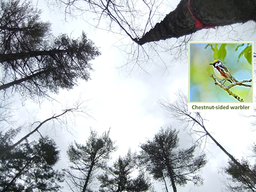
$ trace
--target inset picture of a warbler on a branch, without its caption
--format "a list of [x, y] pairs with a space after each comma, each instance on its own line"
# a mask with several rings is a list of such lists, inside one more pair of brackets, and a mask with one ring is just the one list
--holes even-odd
[[189, 42], [188, 102], [253, 102], [253, 42]]

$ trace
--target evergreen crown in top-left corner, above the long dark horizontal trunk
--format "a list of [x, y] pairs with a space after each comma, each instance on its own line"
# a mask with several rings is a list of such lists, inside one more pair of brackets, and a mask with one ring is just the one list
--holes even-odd
[[31, 3], [1, 0], [0, 10], [1, 54], [35, 50], [50, 36], [50, 23], [40, 20], [41, 11]]

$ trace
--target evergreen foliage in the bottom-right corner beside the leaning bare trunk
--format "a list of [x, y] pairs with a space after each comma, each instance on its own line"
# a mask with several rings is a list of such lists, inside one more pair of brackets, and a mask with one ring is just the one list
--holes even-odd
[[[250, 165], [247, 159], [242, 158], [241, 165], [251, 170], [254, 175], [256, 175], [256, 164]], [[228, 165], [222, 168], [223, 172], [230, 175], [228, 178], [232, 183], [224, 183], [228, 191], [234, 192], [255, 192], [256, 184], [251, 181], [251, 179], [243, 173], [243, 171], [231, 160], [229, 160]]]

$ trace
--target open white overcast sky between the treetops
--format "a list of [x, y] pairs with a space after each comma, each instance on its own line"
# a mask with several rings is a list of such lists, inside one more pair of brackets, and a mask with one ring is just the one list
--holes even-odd
[[[101, 135], [111, 127], [110, 137], [116, 141], [118, 150], [112, 154], [112, 162], [121, 155], [125, 155], [129, 148], [140, 151], [139, 145], [146, 139], [152, 139], [160, 127], [172, 126], [180, 131], [180, 147], [188, 148], [191, 146], [191, 137], [186, 134], [184, 125], [181, 122], [169, 118], [165, 111], [159, 106], [159, 99], [168, 98], [175, 100], [175, 93], [181, 90], [188, 93], [188, 62], [187, 51], [182, 53], [182, 58], [174, 59], [175, 54], [161, 53], [166, 66], [155, 61], [155, 65], [146, 66], [147, 73], [140, 70], [126, 72], [126, 68], [118, 69], [127, 62], [127, 55], [123, 50], [116, 46], [120, 43], [120, 38], [106, 30], [95, 29], [81, 19], [68, 20], [63, 22], [64, 15], [57, 10], [50, 11], [44, 1], [37, 2], [35, 5], [43, 9], [42, 20], [52, 23], [52, 33], [57, 36], [66, 33], [73, 38], [81, 35], [85, 31], [87, 37], [100, 48], [102, 55], [91, 61], [93, 72], [90, 72], [91, 80], [88, 82], [79, 81], [79, 85], [72, 90], [60, 90], [59, 94], [53, 94], [56, 101], [44, 101], [40, 105], [27, 100], [25, 105], [17, 110], [16, 117], [20, 121], [34, 122], [43, 121], [51, 117], [54, 113], [60, 113], [77, 100], [84, 101], [87, 115], [70, 116], [67, 131], [65, 126], [56, 123], [44, 125], [41, 133], [50, 135], [61, 150], [61, 160], [56, 166], [57, 169], [68, 167], [66, 151], [69, 144], [74, 142], [83, 144], [89, 136], [90, 127]], [[176, 7], [175, 1], [172, 7]], [[167, 14], [167, 13], [166, 13]], [[234, 25], [235, 31], [243, 31], [245, 27], [250, 27], [252, 23], [245, 25]], [[231, 41], [236, 39], [236, 32], [232, 32], [230, 37], [222, 35], [230, 28], [222, 27], [216, 30], [205, 29], [199, 31], [195, 36], [195, 41]], [[206, 31], [209, 33], [207, 35]], [[247, 35], [241, 33], [239, 38], [242, 41], [254, 41], [255, 36], [250, 30]], [[129, 39], [123, 42], [129, 42]], [[210, 66], [211, 67], [211, 66]], [[19, 100], [17, 100], [19, 105]], [[206, 112], [202, 113], [208, 121], [205, 125], [213, 137], [236, 158], [245, 156], [248, 147], [255, 141], [255, 132], [251, 132], [250, 121], [252, 119], [242, 117], [237, 112]], [[247, 114], [248, 115], [248, 114]], [[28, 132], [25, 130], [24, 132]], [[31, 139], [36, 139], [32, 136]], [[205, 179], [204, 185], [196, 187], [193, 183], [188, 183], [185, 187], [178, 186], [178, 191], [197, 191], [214, 192], [221, 191], [220, 180], [225, 176], [219, 173], [220, 168], [228, 162], [228, 157], [211, 141], [206, 143], [204, 152], [207, 154], [208, 163], [202, 169]], [[202, 148], [198, 153], [202, 152]], [[251, 159], [254, 162], [253, 159]], [[111, 161], [110, 161], [111, 164]], [[63, 191], [70, 191], [65, 183]], [[156, 184], [155, 189], [162, 191], [163, 185]], [[172, 191], [170, 187], [170, 191]]]

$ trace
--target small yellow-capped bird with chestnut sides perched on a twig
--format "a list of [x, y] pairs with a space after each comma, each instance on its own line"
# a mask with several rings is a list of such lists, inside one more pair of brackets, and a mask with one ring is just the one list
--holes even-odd
[[[225, 80], [224, 83], [228, 80], [231, 83], [238, 82], [229, 72], [228, 68], [226, 68], [225, 65], [222, 64], [219, 60], [214, 60], [209, 65], [212, 65], [214, 73], [218, 79], [221, 81]], [[223, 84], [224, 84], [223, 83]]]

